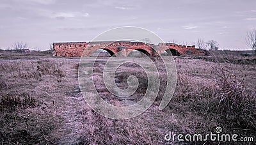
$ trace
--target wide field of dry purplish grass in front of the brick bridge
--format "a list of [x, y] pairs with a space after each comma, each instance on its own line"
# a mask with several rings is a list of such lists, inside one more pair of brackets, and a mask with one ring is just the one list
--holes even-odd
[[[175, 57], [177, 87], [163, 111], [158, 106], [166, 86], [166, 73], [156, 59], [154, 62], [163, 72], [159, 75], [161, 89], [156, 102], [136, 118], [116, 120], [100, 116], [84, 101], [77, 79], [78, 57], [37, 53], [1, 54], [0, 142], [3, 144], [230, 144], [164, 141], [169, 132], [204, 135], [215, 132], [217, 126], [225, 134], [254, 137], [253, 142], [244, 144], [256, 142], [255, 57], [222, 54]], [[140, 82], [134, 95], [116, 99], [102, 80], [107, 59], [101, 57], [93, 70], [100, 96], [113, 105], [138, 102], [147, 91], [143, 69], [127, 63], [116, 70], [119, 88], [127, 88], [129, 75], [135, 75]], [[143, 61], [141, 57], [131, 59]]]

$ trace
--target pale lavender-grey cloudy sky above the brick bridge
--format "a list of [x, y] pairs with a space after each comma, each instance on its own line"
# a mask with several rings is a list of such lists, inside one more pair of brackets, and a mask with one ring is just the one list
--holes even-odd
[[90, 42], [108, 29], [137, 26], [165, 42], [202, 38], [245, 50], [246, 32], [256, 28], [256, 0], [1, 0], [0, 18], [0, 49], [22, 41], [46, 50], [52, 42]]

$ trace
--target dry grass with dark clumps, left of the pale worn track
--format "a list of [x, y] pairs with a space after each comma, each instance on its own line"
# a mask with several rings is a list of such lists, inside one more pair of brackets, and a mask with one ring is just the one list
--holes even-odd
[[[49, 144], [45, 137], [56, 126], [44, 95], [34, 92], [45, 77], [65, 76], [61, 64], [51, 59], [0, 62], [0, 142], [2, 144]], [[46, 108], [46, 109], [45, 109]]]

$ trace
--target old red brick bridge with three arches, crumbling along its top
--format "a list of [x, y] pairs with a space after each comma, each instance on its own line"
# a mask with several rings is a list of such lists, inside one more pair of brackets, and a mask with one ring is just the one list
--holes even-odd
[[[154, 47], [154, 49], [153, 49]], [[166, 51], [173, 56], [183, 54], [202, 54], [200, 50], [193, 46], [177, 45], [175, 43], [159, 43], [158, 45], [146, 44], [143, 42], [63, 42], [53, 43], [55, 56], [78, 57], [82, 55], [90, 56], [93, 52], [103, 49], [111, 56], [122, 51], [122, 56], [128, 56], [132, 50], [143, 52], [147, 56], [157, 56]], [[83, 51], [86, 51], [83, 54]]]

